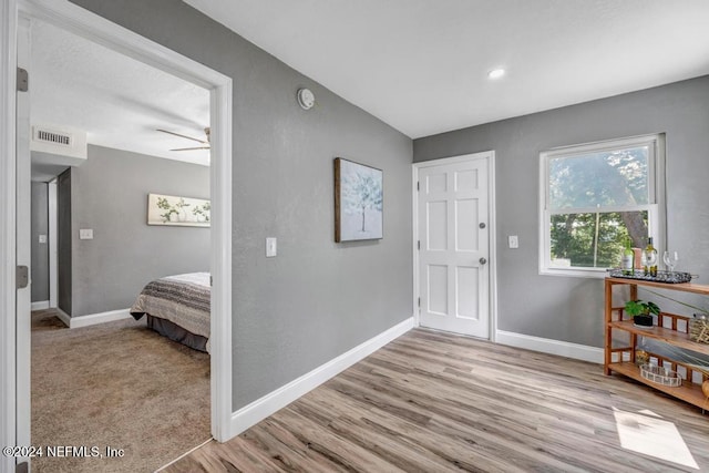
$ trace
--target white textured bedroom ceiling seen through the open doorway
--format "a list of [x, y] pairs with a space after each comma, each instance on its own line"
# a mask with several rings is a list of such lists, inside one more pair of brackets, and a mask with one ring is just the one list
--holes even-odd
[[199, 143], [156, 131], [204, 140], [208, 91], [43, 22], [33, 22], [31, 43], [33, 125], [78, 128], [91, 144], [208, 164], [208, 151], [169, 151]]

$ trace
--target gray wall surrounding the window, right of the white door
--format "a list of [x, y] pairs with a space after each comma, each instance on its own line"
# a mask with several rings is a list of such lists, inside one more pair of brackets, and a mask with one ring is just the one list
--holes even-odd
[[[538, 275], [538, 153], [665, 132], [668, 245], [680, 254], [679, 270], [709, 284], [708, 131], [709, 76], [703, 76], [415, 140], [413, 157], [495, 150], [499, 328], [602, 347], [603, 281]], [[507, 248], [507, 235], [520, 236], [520, 249]]]

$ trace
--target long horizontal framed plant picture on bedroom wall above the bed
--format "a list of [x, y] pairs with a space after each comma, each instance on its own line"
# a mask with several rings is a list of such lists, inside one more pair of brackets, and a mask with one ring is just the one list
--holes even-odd
[[212, 205], [202, 198], [147, 195], [147, 225], [208, 227]]

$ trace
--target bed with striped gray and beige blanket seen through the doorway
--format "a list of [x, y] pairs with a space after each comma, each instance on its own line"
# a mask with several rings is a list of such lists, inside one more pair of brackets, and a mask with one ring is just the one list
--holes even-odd
[[150, 281], [131, 307], [135, 320], [195, 350], [209, 352], [209, 273], [188, 273]]

